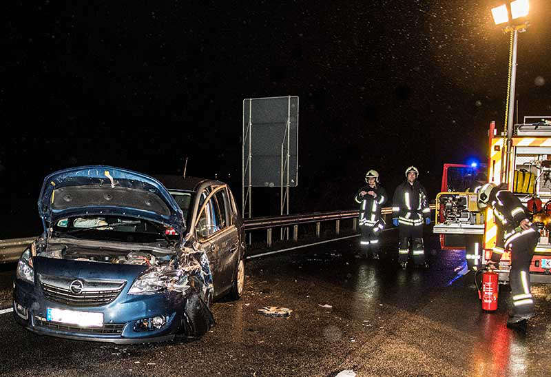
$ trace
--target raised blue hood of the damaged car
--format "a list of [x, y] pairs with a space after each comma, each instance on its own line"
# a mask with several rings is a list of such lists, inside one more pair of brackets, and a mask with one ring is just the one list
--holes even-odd
[[169, 225], [183, 235], [182, 210], [156, 179], [111, 166], [82, 166], [59, 170], [44, 179], [39, 214], [46, 228], [68, 216], [112, 214], [133, 216]]

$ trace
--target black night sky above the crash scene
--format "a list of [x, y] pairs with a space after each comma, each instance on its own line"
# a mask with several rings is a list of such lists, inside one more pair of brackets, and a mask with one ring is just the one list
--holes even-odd
[[[499, 1], [89, 3], [1, 12], [2, 223], [23, 233], [44, 176], [64, 167], [181, 174], [187, 156], [189, 175], [217, 174], [240, 197], [245, 98], [300, 97], [291, 212], [354, 207], [370, 168], [393, 192], [416, 165], [435, 196], [442, 164], [486, 159], [488, 123], [503, 128]], [[519, 119], [551, 114], [550, 17], [551, 1], [530, 1]], [[279, 203], [279, 189], [253, 193]]]

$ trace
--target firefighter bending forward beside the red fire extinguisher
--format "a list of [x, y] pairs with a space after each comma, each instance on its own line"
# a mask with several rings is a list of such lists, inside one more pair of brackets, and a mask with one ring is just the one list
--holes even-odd
[[530, 294], [530, 263], [539, 241], [539, 231], [528, 221], [526, 208], [517, 196], [486, 183], [477, 192], [480, 208], [490, 207], [497, 225], [496, 245], [489, 261], [495, 268], [503, 252], [510, 250], [509, 283], [513, 307], [507, 320], [508, 327], [526, 329], [526, 321], [534, 316], [534, 300]]

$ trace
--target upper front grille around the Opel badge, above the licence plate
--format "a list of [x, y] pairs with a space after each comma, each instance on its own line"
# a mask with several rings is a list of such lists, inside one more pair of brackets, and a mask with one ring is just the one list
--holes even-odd
[[[39, 275], [45, 298], [74, 307], [101, 306], [111, 303], [126, 285], [126, 281], [75, 279], [67, 276]], [[81, 292], [75, 293], [71, 284], [79, 281]]]

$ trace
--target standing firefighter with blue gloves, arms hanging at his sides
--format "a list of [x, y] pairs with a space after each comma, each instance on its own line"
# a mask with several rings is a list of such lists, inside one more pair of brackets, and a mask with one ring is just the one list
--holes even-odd
[[396, 187], [393, 197], [393, 224], [399, 227], [398, 262], [403, 269], [408, 265], [408, 254], [413, 255], [417, 267], [428, 267], [423, 247], [423, 223], [430, 224], [430, 208], [425, 187], [417, 181], [419, 170], [406, 169], [406, 181]]

